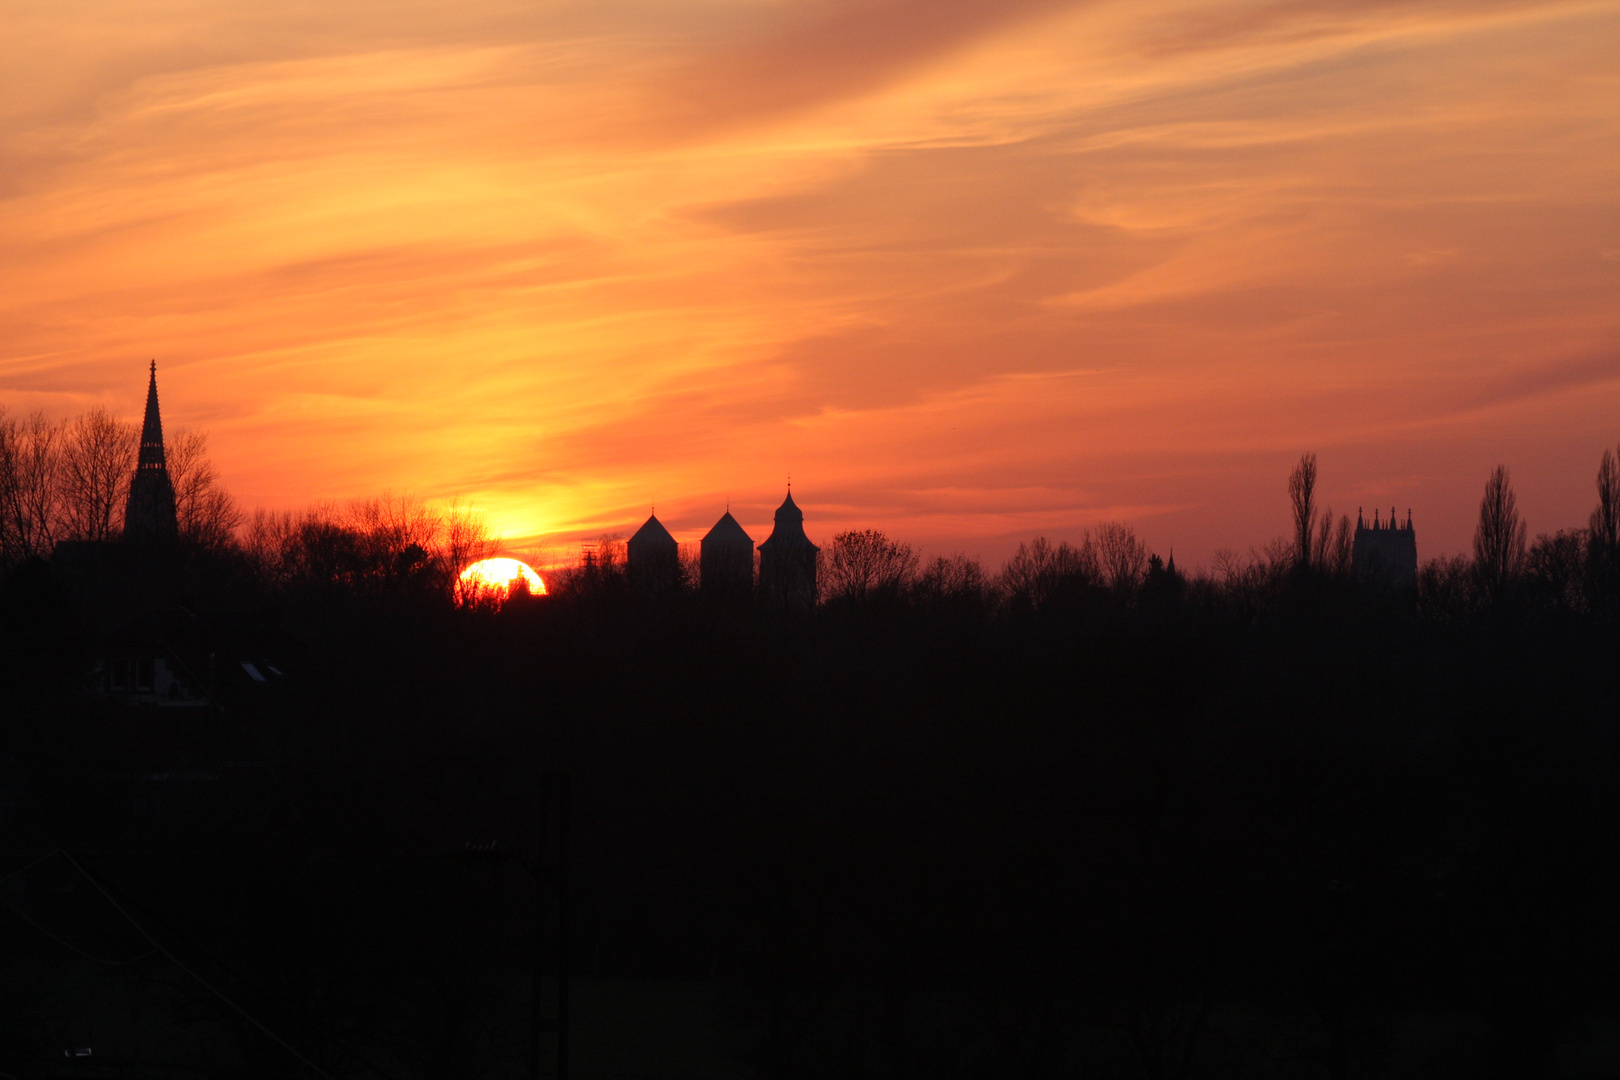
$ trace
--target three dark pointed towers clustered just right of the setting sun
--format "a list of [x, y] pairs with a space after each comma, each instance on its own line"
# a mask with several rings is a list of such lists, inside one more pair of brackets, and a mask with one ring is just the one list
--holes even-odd
[[[635, 531], [627, 547], [630, 580], [643, 588], [672, 588], [680, 576], [680, 546], [658, 515]], [[726, 515], [703, 536], [698, 573], [705, 596], [753, 596], [753, 538]], [[805, 515], [792, 489], [776, 508], [776, 525], [760, 544], [760, 602], [771, 607], [815, 606], [815, 562], [821, 549], [805, 536]]]

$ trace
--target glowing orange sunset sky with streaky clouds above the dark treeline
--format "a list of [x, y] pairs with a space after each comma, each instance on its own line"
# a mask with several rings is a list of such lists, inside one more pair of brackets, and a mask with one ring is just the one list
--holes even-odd
[[1620, 3], [0, 0], [0, 403], [561, 552], [1584, 525]]

